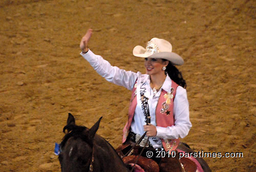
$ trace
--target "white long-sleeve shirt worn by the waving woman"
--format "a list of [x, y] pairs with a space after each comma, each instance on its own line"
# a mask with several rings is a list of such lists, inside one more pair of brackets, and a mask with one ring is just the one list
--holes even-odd
[[[132, 90], [137, 80], [138, 95], [140, 95], [140, 90], [138, 88], [140, 88], [140, 84], [144, 83], [144, 87], [146, 88], [144, 95], [148, 98], [148, 105], [150, 108], [151, 115], [151, 124], [156, 126], [155, 112], [161, 90], [164, 89], [166, 92], [170, 92], [170, 88], [172, 87], [172, 82], [168, 75], [166, 76], [166, 79], [160, 90], [156, 94], [154, 94], [150, 86], [150, 77], [147, 74], [141, 74], [140, 72], [136, 73], [132, 71], [125, 71], [116, 66], [111, 66], [111, 64], [108, 61], [104, 60], [101, 56], [95, 55], [90, 50], [88, 51], [88, 53], [80, 53], [80, 55], [83, 56], [83, 58], [91, 64], [91, 66], [99, 73], [100, 76], [104, 77], [109, 82]], [[159, 148], [162, 146], [159, 138], [184, 138], [188, 134], [192, 126], [189, 120], [189, 105], [187, 100], [187, 93], [186, 90], [181, 86], [178, 86], [176, 90], [173, 114], [175, 119], [174, 126], [166, 128], [156, 126], [157, 135], [154, 138], [150, 138], [150, 142], [154, 146], [154, 148]], [[131, 125], [132, 132], [143, 135], [143, 126], [146, 125], [144, 120], [145, 116], [143, 114], [143, 110], [141, 107], [140, 96], [137, 96], [137, 106], [135, 109], [134, 119]]]

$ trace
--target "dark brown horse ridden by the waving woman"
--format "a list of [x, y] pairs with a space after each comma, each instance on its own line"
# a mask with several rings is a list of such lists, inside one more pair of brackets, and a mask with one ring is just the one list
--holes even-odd
[[[64, 133], [66, 133], [66, 130], [68, 132], [62, 138], [62, 141], [59, 145], [58, 159], [61, 166], [61, 172], [131, 172], [132, 165], [124, 163], [124, 159], [121, 159], [119, 152], [117, 152], [108, 141], [96, 134], [101, 118], [102, 117], [99, 118], [99, 120], [93, 125], [91, 129], [88, 129], [84, 126], [77, 126], [75, 124], [74, 116], [69, 113], [67, 125], [63, 128]], [[178, 148], [186, 152], [192, 151], [187, 146], [182, 148], [183, 146], [181, 145]], [[142, 159], [139, 159], [139, 161], [144, 161], [146, 159], [144, 157], [141, 158]], [[169, 161], [163, 161], [162, 166], [167, 168], [166, 170], [160, 170], [160, 172], [184, 171], [183, 169], [177, 167], [177, 158], [172, 159], [172, 164], [169, 164]], [[129, 158], [126, 160], [129, 161]], [[134, 162], [134, 160], [132, 161]], [[203, 159], [199, 162], [204, 172], [211, 171]], [[148, 161], [146, 160], [144, 165], [148, 165], [146, 165], [147, 170], [145, 171], [159, 171], [159, 168], [150, 169], [154, 166], [154, 163], [156, 162], [153, 162], [151, 159], [148, 159]], [[180, 165], [180, 163], [178, 165]], [[169, 170], [170, 166], [175, 167], [175, 169]], [[161, 167], [161, 164], [159, 164], [159, 167]], [[141, 169], [141, 171], [144, 170]]]

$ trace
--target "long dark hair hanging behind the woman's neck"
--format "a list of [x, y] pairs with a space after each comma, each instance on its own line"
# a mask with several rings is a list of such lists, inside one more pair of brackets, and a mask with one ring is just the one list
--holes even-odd
[[[166, 59], [162, 60], [167, 61]], [[187, 87], [186, 81], [183, 79], [181, 72], [171, 62], [169, 62], [166, 66], [165, 72], [167, 72], [170, 79], [172, 79], [178, 85], [182, 86], [183, 88]]]

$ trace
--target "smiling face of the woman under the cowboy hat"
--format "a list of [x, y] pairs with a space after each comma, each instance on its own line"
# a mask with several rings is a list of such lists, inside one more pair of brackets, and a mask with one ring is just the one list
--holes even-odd
[[144, 60], [146, 73], [150, 76], [164, 73], [164, 70], [162, 70], [162, 68], [163, 66], [167, 66], [168, 64], [168, 61], [163, 61], [162, 59], [145, 58]]

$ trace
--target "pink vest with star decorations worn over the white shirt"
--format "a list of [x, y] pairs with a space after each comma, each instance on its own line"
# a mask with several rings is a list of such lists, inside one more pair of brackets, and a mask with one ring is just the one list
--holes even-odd
[[[132, 90], [128, 121], [126, 122], [126, 125], [123, 128], [123, 140], [122, 140], [123, 143], [125, 142], [129, 134], [129, 130], [134, 117], [135, 108], [137, 106], [136, 85], [137, 85], [137, 81]], [[163, 89], [161, 91], [157, 108], [156, 108], [156, 124], [159, 127], [174, 126], [174, 115], [173, 115], [174, 104], [173, 103], [174, 103], [177, 87], [178, 87], [178, 84], [172, 81], [171, 92], [167, 93]], [[163, 148], [165, 151], [176, 150], [180, 142], [179, 139], [165, 139], [165, 140], [161, 139], [161, 140], [162, 140]]]

